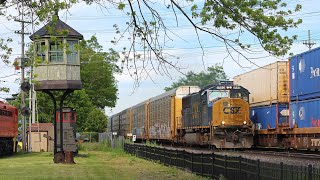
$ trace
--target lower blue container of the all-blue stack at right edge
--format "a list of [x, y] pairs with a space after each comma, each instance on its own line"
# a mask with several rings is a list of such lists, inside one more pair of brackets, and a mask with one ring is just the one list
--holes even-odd
[[290, 126], [320, 127], [320, 98], [290, 103]]

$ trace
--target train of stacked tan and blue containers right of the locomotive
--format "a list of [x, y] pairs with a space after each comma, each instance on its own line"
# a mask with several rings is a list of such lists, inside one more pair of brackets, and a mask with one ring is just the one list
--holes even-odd
[[255, 145], [320, 149], [320, 48], [236, 76], [250, 91]]

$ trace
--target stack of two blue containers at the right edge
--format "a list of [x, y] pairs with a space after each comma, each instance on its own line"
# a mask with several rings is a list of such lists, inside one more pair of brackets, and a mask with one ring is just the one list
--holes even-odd
[[320, 127], [320, 48], [290, 59], [290, 126]]

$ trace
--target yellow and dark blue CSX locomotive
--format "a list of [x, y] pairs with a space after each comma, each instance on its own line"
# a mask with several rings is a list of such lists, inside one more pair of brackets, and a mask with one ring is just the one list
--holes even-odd
[[250, 148], [249, 91], [232, 81], [221, 81], [182, 98], [179, 143], [213, 148]]

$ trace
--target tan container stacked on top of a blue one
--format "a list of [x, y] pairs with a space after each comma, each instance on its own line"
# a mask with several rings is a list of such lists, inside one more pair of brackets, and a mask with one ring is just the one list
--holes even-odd
[[278, 61], [235, 76], [234, 84], [250, 92], [250, 106], [289, 102], [288, 62]]

